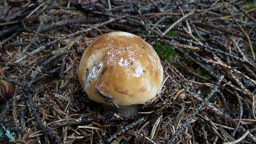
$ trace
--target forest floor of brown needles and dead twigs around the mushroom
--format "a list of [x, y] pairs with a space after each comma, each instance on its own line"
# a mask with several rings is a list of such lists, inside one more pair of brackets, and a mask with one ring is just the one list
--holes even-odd
[[[161, 92], [122, 120], [82, 90], [78, 66], [104, 33], [154, 47]], [[255, 144], [256, 2], [2, 0], [0, 143]]]

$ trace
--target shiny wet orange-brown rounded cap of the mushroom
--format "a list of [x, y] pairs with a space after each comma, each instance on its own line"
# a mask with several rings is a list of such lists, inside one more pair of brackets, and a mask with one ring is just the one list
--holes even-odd
[[163, 81], [163, 67], [153, 47], [126, 32], [101, 35], [86, 48], [78, 79], [95, 102], [107, 103], [95, 87], [111, 95], [118, 105], [145, 104]]

